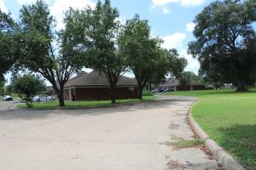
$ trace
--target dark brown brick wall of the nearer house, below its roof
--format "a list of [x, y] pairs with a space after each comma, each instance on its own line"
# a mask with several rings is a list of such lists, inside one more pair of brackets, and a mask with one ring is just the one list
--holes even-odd
[[[138, 88], [116, 88], [117, 99], [134, 99]], [[64, 98], [69, 100], [68, 89], [64, 90]], [[76, 100], [110, 99], [109, 88], [75, 88]]]

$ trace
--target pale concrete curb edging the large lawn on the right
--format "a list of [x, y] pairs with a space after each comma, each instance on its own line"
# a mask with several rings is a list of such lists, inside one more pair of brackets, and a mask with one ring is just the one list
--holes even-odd
[[212, 156], [218, 160], [226, 170], [245, 170], [230, 154], [228, 154], [223, 148], [221, 148], [214, 140], [210, 139], [207, 133], [205, 133], [201, 127], [195, 122], [191, 116], [191, 110], [189, 111], [189, 121], [201, 139], [205, 141], [207, 149], [211, 150]]

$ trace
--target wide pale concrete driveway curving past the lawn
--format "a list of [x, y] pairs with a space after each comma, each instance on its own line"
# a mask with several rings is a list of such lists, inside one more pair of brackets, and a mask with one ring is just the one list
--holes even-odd
[[0, 167], [218, 169], [217, 161], [198, 148], [177, 150], [166, 145], [192, 139], [185, 117], [194, 102], [166, 96], [151, 103], [84, 111], [0, 110]]

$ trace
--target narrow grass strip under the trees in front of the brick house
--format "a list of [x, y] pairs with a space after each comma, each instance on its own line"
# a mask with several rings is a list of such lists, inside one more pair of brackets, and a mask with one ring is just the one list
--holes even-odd
[[[156, 99], [156, 96], [143, 96], [143, 101]], [[139, 99], [117, 99], [117, 105], [128, 104], [140, 101]], [[111, 105], [110, 100], [97, 100], [97, 101], [66, 101], [67, 108], [77, 108], [77, 107], [96, 107], [96, 106], [106, 106]], [[35, 102], [32, 109], [56, 109], [58, 108], [58, 101], [49, 101], [49, 102]], [[26, 104], [17, 105], [19, 108], [26, 108]]]

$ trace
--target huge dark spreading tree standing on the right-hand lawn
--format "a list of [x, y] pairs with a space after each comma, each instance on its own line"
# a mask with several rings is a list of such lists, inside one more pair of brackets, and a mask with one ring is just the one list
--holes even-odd
[[224, 0], [211, 3], [194, 20], [196, 40], [189, 42], [189, 53], [199, 59], [201, 71], [215, 68], [214, 75], [234, 82], [236, 91], [247, 90], [255, 71], [255, 14], [254, 0]]

